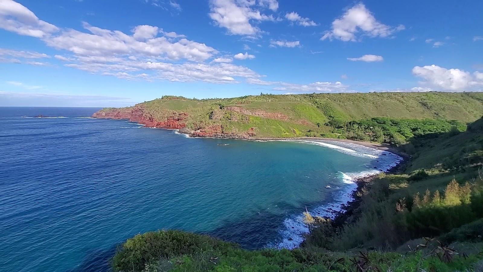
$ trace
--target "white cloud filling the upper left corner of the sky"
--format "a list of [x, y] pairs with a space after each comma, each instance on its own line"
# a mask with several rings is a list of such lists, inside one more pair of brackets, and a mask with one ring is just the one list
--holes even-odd
[[0, 0], [0, 28], [20, 35], [42, 38], [59, 29], [39, 20], [28, 8], [13, 1]]

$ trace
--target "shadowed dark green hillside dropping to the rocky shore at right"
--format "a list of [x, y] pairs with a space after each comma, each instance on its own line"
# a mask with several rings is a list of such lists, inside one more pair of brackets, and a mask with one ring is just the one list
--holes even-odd
[[[411, 223], [405, 218], [414, 210], [412, 203], [415, 194], [422, 197], [427, 190], [432, 197], [438, 190], [441, 196], [445, 196], [447, 185], [453, 179], [460, 186], [466, 182], [473, 184], [470, 201], [477, 201], [473, 204], [481, 201], [483, 180], [482, 172], [478, 169], [482, 169], [483, 164], [483, 118], [469, 124], [465, 132], [415, 137], [407, 145], [412, 145], [413, 150], [407, 168], [398, 174], [380, 175], [372, 184], [367, 185], [366, 189], [361, 191], [360, 206], [354, 212], [355, 220], [339, 230], [336, 239], [321, 240], [325, 233], [317, 230], [309, 237], [308, 246], [325, 246], [333, 250], [348, 250], [355, 247], [395, 249], [402, 242], [414, 238]], [[426, 174], [416, 179], [420, 171]], [[402, 199], [407, 205], [404, 210], [397, 211], [397, 203]], [[436, 207], [431, 213], [436, 214], [444, 210], [449, 214], [455, 214], [457, 212], [451, 211], [457, 211], [461, 205], [465, 204]], [[468, 222], [480, 220], [482, 216], [479, 211], [480, 204], [473, 207], [476, 207], [476, 210], [473, 208], [474, 212], [471, 212], [469, 218], [465, 218]], [[445, 217], [448, 218], [444, 215], [437, 220], [444, 221]], [[425, 220], [434, 228], [433, 235], [441, 233], [441, 227], [436, 227], [438, 222], [431, 222], [433, 219], [430, 217]], [[458, 225], [457, 220], [448, 220], [449, 223]], [[481, 233], [481, 230], [479, 232]], [[483, 249], [481, 244], [479, 247]], [[407, 250], [407, 246], [402, 248]]]

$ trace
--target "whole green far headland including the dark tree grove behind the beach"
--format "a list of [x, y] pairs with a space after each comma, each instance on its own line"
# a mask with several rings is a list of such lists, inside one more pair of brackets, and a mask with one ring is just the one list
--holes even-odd
[[258, 138], [314, 136], [402, 145], [413, 136], [462, 130], [481, 116], [483, 93], [262, 93], [202, 100], [163, 96], [138, 105], [157, 120], [184, 112], [191, 130], [216, 125], [240, 135], [254, 128]]

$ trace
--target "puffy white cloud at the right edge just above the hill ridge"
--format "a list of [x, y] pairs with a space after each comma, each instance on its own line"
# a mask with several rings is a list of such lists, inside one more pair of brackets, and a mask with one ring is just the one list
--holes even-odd
[[441, 91], [471, 91], [481, 90], [483, 86], [483, 73], [470, 74], [460, 69], [446, 69], [438, 65], [415, 66], [412, 74], [423, 78], [424, 85], [437, 88]]

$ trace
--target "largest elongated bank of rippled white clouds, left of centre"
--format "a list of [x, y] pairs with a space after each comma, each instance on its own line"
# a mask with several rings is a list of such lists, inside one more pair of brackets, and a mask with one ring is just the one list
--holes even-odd
[[[268, 3], [267, 8], [270, 9], [269, 2], [264, 3]], [[22, 11], [28, 11], [24, 6], [21, 7]], [[2, 17], [12, 17], [6, 14], [3, 6], [1, 9]], [[54, 56], [56, 60], [64, 62], [64, 66], [103, 76], [127, 80], [203, 81], [220, 84], [261, 77], [247, 67], [229, 63], [231, 57], [216, 57], [218, 51], [211, 46], [190, 41], [184, 35], [167, 32], [156, 26], [136, 26], [132, 33], [101, 29], [86, 22], [83, 27], [83, 31], [64, 29], [39, 38], [48, 46], [70, 52]], [[237, 59], [255, 58], [248, 53], [236, 56]], [[31, 65], [49, 65], [31, 59], [50, 56], [38, 52], [0, 49], [0, 62], [21, 62], [17, 58], [25, 59], [25, 63]], [[211, 58], [214, 58], [213, 61], [205, 63]]]

